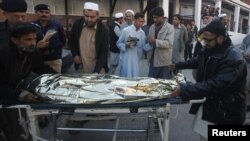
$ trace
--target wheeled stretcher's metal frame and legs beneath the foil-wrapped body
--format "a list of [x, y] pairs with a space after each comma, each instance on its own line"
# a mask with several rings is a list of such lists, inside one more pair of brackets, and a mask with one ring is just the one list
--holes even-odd
[[[97, 131], [97, 132], [114, 132], [113, 141], [116, 140], [117, 132], [146, 132], [146, 141], [148, 140], [149, 129], [118, 129], [119, 114], [141, 114], [146, 116], [156, 117], [160, 129], [162, 141], [168, 141], [169, 137], [169, 121], [171, 105], [173, 104], [186, 104], [186, 103], [203, 103], [204, 99], [191, 100], [189, 102], [183, 102], [180, 99], [165, 98], [161, 100], [152, 100], [138, 103], [114, 103], [114, 104], [30, 104], [30, 105], [13, 105], [4, 106], [6, 108], [26, 109], [27, 118], [29, 121], [28, 131], [32, 135], [33, 141], [46, 141], [39, 137], [40, 131], [36, 116], [38, 115], [52, 115], [53, 136], [51, 141], [59, 141], [57, 138], [57, 131]], [[121, 110], [123, 109], [123, 110]], [[135, 111], [133, 111], [133, 110]], [[105, 115], [104, 117], [98, 117], [100, 119], [116, 119], [116, 125], [114, 129], [96, 129], [96, 128], [65, 128], [57, 127], [56, 117], [61, 114], [96, 114]], [[20, 112], [19, 112], [20, 114]], [[107, 116], [109, 115], [109, 116]], [[20, 115], [22, 117], [22, 115]], [[89, 120], [89, 119], [85, 119]], [[149, 126], [147, 126], [149, 127]], [[27, 133], [26, 133], [27, 134]]]

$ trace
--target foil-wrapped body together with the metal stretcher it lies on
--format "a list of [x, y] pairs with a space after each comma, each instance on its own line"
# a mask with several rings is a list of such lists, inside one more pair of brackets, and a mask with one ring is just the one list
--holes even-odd
[[[26, 109], [29, 119], [28, 131], [31, 133], [34, 141], [44, 140], [39, 137], [36, 116], [46, 114], [51, 114], [53, 117], [52, 140], [54, 141], [57, 140], [58, 130], [114, 132], [114, 141], [117, 132], [148, 131], [146, 129], [118, 129], [119, 116], [124, 114], [156, 117], [162, 140], [167, 141], [170, 105], [188, 103], [180, 99], [168, 98], [168, 94], [175, 89], [179, 82], [184, 82], [182, 76], [175, 80], [157, 80], [153, 78], [127, 79], [118, 76], [92, 74], [47, 74], [35, 78], [26, 86], [26, 89], [36, 92], [39, 97], [47, 100], [45, 103], [21, 104], [8, 106], [8, 108]], [[57, 127], [56, 117], [58, 115], [74, 113], [98, 115], [95, 118], [98, 120], [114, 118], [116, 120], [116, 128], [74, 129]]]

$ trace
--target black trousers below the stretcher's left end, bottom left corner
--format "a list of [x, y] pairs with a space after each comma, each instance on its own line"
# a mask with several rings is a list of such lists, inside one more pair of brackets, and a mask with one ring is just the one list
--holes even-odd
[[[26, 116], [26, 111], [22, 110], [21, 113], [22, 116]], [[17, 109], [0, 109], [0, 129], [7, 141], [31, 140], [31, 136], [25, 136], [26, 134], [19, 124], [19, 113]]]

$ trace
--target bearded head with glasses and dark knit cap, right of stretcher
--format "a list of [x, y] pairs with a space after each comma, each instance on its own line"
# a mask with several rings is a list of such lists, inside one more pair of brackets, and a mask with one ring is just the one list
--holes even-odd
[[226, 35], [226, 28], [219, 19], [210, 22], [202, 33], [203, 41], [207, 48], [221, 45], [225, 41]]

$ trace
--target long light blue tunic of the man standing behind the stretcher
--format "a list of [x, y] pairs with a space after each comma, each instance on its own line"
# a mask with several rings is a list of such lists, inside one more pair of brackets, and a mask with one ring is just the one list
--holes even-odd
[[[126, 47], [129, 37], [137, 38], [136, 44]], [[125, 28], [117, 41], [116, 45], [120, 49], [119, 64], [116, 75], [123, 77], [139, 77], [140, 60], [143, 53], [143, 47], [146, 43], [146, 35], [142, 29], [136, 30], [134, 25]]]

